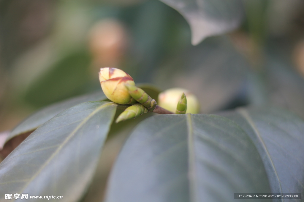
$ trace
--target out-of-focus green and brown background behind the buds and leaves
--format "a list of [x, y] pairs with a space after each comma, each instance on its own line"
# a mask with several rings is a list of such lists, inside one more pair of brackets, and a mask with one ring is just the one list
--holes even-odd
[[212, 113], [275, 104], [304, 117], [304, 2], [244, 0], [241, 27], [191, 45], [157, 0], [0, 2], [0, 131], [43, 106], [101, 90], [98, 70], [182, 87]]

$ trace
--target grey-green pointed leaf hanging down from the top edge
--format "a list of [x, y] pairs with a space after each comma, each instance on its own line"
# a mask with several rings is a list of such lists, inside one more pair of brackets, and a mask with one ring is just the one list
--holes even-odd
[[244, 15], [241, 0], [160, 0], [176, 9], [188, 21], [192, 44], [237, 28]]

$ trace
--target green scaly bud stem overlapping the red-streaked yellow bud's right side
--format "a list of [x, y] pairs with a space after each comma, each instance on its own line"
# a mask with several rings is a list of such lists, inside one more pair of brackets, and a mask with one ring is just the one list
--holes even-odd
[[129, 94], [139, 103], [143, 104], [149, 111], [153, 111], [157, 103], [143, 89], [133, 85], [125, 85]]

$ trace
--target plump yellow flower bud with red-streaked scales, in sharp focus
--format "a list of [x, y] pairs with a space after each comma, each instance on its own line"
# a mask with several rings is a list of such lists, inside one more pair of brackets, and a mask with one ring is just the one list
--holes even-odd
[[125, 85], [135, 86], [133, 78], [126, 72], [116, 68], [101, 68], [99, 81], [102, 91], [109, 100], [118, 104], [136, 103]]

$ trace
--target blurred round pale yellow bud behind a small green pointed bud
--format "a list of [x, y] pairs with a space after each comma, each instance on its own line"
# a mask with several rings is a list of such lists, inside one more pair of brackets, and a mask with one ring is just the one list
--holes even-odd
[[199, 100], [191, 92], [182, 88], [171, 88], [158, 95], [158, 105], [168, 111], [175, 112], [176, 106], [181, 99], [181, 95], [185, 92], [187, 97], [186, 113], [199, 113]]

